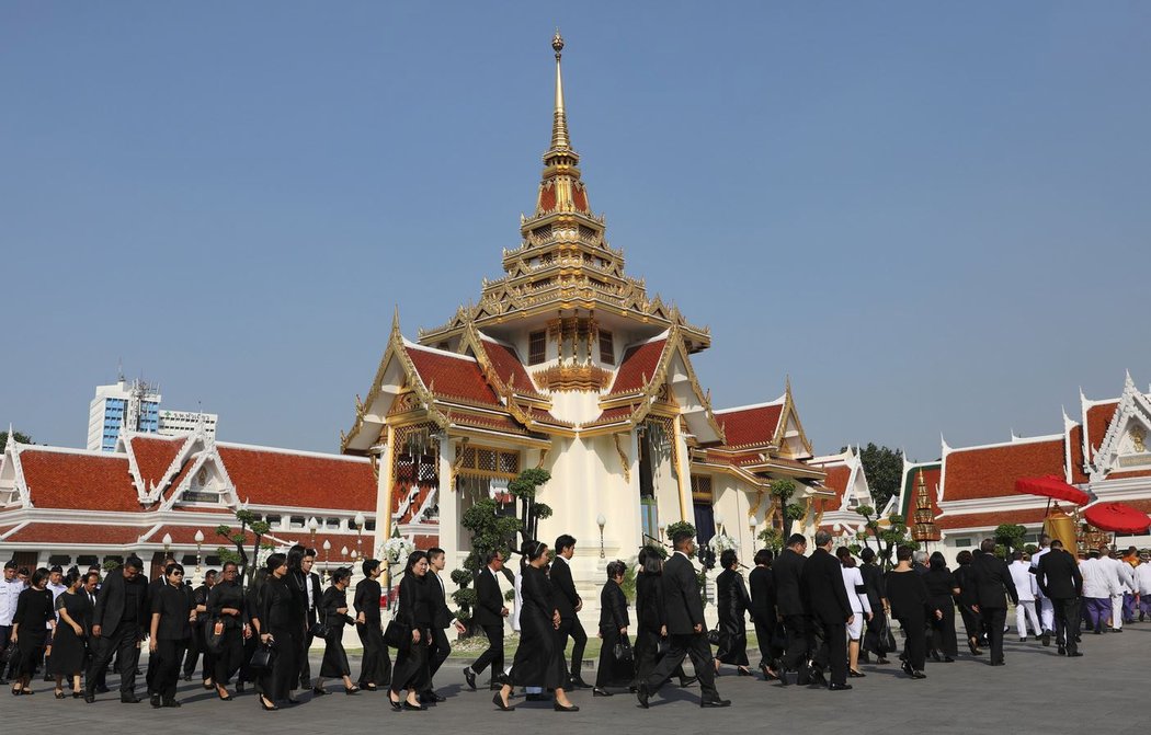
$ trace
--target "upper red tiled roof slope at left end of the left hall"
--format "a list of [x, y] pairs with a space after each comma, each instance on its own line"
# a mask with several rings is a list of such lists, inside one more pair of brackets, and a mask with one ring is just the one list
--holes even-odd
[[124, 454], [20, 452], [32, 505], [40, 508], [138, 512], [136, 485]]

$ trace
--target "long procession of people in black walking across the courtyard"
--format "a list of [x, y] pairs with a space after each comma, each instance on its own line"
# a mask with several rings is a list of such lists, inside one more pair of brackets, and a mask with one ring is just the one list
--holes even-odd
[[[961, 552], [954, 571], [942, 553], [928, 558], [900, 546], [897, 564], [887, 572], [870, 549], [863, 549], [856, 562], [848, 549], [834, 549], [825, 531], [816, 533], [814, 541], [810, 556], [807, 539], [799, 534], [787, 539], [778, 556], [759, 551], [747, 582], [735, 552], [724, 551], [716, 579], [718, 625], [712, 630], [704, 623], [701, 577], [692, 562], [693, 535], [676, 535], [666, 559], [663, 550], [641, 550], [634, 628], [624, 591], [627, 566], [611, 561], [600, 598], [601, 648], [594, 686], [584, 681], [580, 671], [587, 634], [578, 617], [584, 602], [569, 567], [576, 539], [561, 536], [554, 552], [540, 541], [521, 545], [513, 608], [501, 591], [500, 580], [506, 576], [504, 554], [493, 551], [475, 575], [472, 618], [487, 636], [488, 648], [464, 669], [466, 684], [474, 690], [479, 674], [490, 667], [489, 688], [498, 710], [513, 711], [514, 690], [523, 687], [528, 700], [550, 699], [556, 711], [574, 712], [579, 707], [569, 698], [572, 689], [592, 688], [594, 696], [610, 697], [612, 689], [626, 688], [646, 709], [672, 680], [680, 687], [698, 681], [700, 705], [723, 707], [731, 703], [716, 689], [721, 668], [733, 666], [738, 675], [754, 675], [747, 652], [747, 615], [760, 649], [759, 669], [767, 681], [851, 689], [848, 679], [864, 676], [860, 661], [874, 656], [875, 664], [883, 665], [889, 653], [895, 653], [892, 621], [899, 622], [904, 636], [900, 665], [908, 679], [918, 680], [925, 677], [929, 657], [952, 663], [959, 656], [956, 610], [970, 653], [982, 656], [985, 645], [990, 664], [1004, 665], [1007, 603], [1036, 618], [1032, 600], [1037, 597], [1053, 613], [1053, 630], [1036, 625], [1037, 620], [1032, 623], [1037, 638], [1047, 645], [1054, 637], [1060, 654], [1082, 656], [1084, 577], [1081, 562], [1059, 541], [1049, 546], [1044, 539], [1034, 562], [1016, 552], [1015, 565], [1008, 567], [993, 553], [994, 542], [986, 539], [974, 552]], [[195, 589], [175, 561], [152, 581], [144, 579], [143, 562], [136, 557], [104, 579], [99, 569], [82, 574], [59, 567], [28, 576], [9, 562], [0, 585], [0, 615], [10, 614], [10, 626], [0, 627], [0, 673], [7, 671], [13, 695], [31, 695], [43, 666], [45, 680], [55, 684], [56, 698], [66, 698], [69, 686], [71, 697], [91, 703], [108, 691], [105, 676], [114, 661], [120, 700], [137, 703], [142, 699], [136, 677], [142, 674], [139, 658], [146, 645], [146, 694], [154, 707], [181, 706], [176, 699], [180, 679], [191, 681], [201, 659], [204, 689], [228, 702], [251, 684], [266, 711], [297, 704], [299, 689], [327, 695], [328, 680], [338, 681], [346, 695], [387, 690], [396, 711], [426, 711], [443, 702], [433, 680], [451, 650], [445, 629], [465, 630], [448, 607], [439, 575], [445, 565], [444, 551], [409, 556], [398, 607], [387, 626], [381, 617], [380, 561], [363, 562], [363, 577], [350, 604], [352, 571], [335, 569], [327, 589], [321, 589], [321, 577], [312, 571], [314, 561], [313, 550], [294, 546], [287, 554], [270, 554], [246, 587], [237, 565], [228, 562], [219, 573], [209, 571]], [[1090, 581], [1093, 567], [1088, 567]], [[1136, 579], [1133, 574], [1131, 580]], [[519, 642], [505, 668], [509, 617]], [[1019, 621], [1026, 640], [1026, 615]], [[7, 621], [0, 618], [0, 622]], [[355, 681], [343, 648], [345, 626], [356, 627], [363, 645]], [[325, 646], [313, 679], [308, 651], [317, 637]], [[688, 657], [692, 676], [683, 668]]]

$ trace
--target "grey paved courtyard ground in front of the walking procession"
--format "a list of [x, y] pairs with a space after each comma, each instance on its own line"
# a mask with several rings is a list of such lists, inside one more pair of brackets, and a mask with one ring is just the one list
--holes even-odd
[[[1066, 659], [1054, 644], [1019, 643], [1008, 636], [1007, 666], [992, 668], [986, 656], [961, 656], [954, 664], [928, 664], [928, 679], [904, 679], [897, 666], [864, 665], [867, 677], [852, 680], [855, 689], [829, 692], [767, 684], [759, 677], [737, 677], [725, 668], [719, 691], [732, 699], [727, 710], [701, 710], [699, 686], [668, 687], [663, 698], [643, 711], [635, 698], [617, 694], [593, 698], [589, 690], [573, 695], [582, 710], [566, 714], [550, 704], [525, 704], [518, 711], [494, 710], [487, 690], [463, 688], [464, 661], [452, 658], [441, 671], [440, 691], [448, 700], [428, 712], [394, 713], [382, 692], [349, 697], [338, 684], [327, 697], [279, 712], [261, 712], [254, 694], [220, 702], [199, 686], [181, 683], [180, 710], [153, 710], [146, 702], [120, 704], [113, 692], [96, 704], [56, 700], [51, 686], [37, 682], [33, 697], [0, 697], [6, 733], [138, 733], [166, 735], [227, 733], [497, 733], [550, 732], [556, 728], [604, 727], [612, 733], [703, 733], [717, 728], [761, 733], [1074, 733], [1106, 723], [1107, 730], [1142, 726], [1145, 721], [1151, 623], [1134, 625], [1122, 634], [1083, 636], [1084, 657]], [[753, 659], [756, 660], [756, 659]], [[353, 668], [359, 665], [353, 658]], [[313, 664], [314, 667], [318, 666]], [[590, 676], [586, 675], [587, 679]], [[7, 695], [7, 692], [5, 692]], [[1021, 719], [1023, 718], [1023, 719]]]

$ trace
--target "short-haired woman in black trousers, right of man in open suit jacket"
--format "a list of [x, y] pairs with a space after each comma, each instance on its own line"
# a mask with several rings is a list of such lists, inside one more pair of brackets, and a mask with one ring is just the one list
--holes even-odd
[[148, 694], [153, 707], [178, 707], [176, 684], [180, 681], [180, 665], [192, 637], [196, 596], [190, 587], [184, 585], [183, 566], [169, 564], [163, 569], [163, 576], [165, 583], [150, 600], [147, 648], [152, 658], [148, 669], [155, 673], [148, 682]]

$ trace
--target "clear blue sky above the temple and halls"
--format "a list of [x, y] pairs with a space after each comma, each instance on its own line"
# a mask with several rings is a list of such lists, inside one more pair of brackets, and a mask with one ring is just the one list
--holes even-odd
[[335, 451], [382, 354], [519, 244], [559, 25], [608, 237], [791, 375], [821, 452], [1060, 431], [1151, 382], [1151, 3], [0, 5], [0, 423], [129, 376]]

